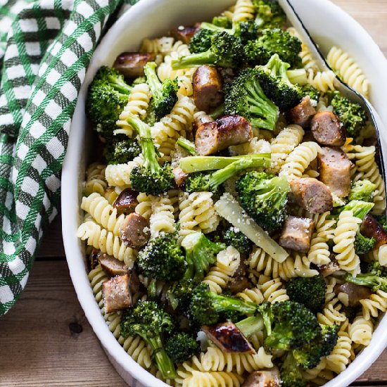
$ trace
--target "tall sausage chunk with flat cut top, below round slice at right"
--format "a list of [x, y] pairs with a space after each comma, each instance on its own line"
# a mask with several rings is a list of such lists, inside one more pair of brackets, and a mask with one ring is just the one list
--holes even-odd
[[329, 186], [332, 194], [344, 198], [350, 193], [352, 163], [341, 148], [322, 147], [319, 158], [319, 179]]

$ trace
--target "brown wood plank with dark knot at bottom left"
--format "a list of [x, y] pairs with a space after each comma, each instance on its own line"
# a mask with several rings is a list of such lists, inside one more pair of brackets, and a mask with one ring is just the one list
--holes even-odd
[[126, 386], [84, 317], [66, 262], [35, 263], [0, 332], [0, 386]]

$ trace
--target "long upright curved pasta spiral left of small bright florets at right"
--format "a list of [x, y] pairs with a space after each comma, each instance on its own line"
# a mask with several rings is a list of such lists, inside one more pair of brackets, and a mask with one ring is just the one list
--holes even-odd
[[360, 273], [360, 259], [355, 253], [355, 238], [362, 222], [353, 216], [352, 211], [343, 211], [338, 216], [337, 227], [334, 231], [334, 253], [341, 269], [353, 276]]

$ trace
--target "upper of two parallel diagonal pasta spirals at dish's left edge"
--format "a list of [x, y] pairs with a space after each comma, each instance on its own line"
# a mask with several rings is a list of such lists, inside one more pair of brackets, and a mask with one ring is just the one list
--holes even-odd
[[115, 235], [120, 234], [120, 227], [125, 220], [125, 215], [122, 214], [118, 217], [117, 209], [113, 208], [106, 198], [94, 192], [82, 198], [81, 208], [89, 212], [102, 227], [108, 231], [112, 231]]

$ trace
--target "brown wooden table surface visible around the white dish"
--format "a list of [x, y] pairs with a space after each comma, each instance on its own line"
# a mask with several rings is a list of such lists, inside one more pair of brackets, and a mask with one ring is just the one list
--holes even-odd
[[[334, 3], [353, 15], [387, 56], [387, 0]], [[25, 292], [0, 319], [0, 350], [0, 386], [127, 386], [78, 303], [59, 219], [46, 232]], [[387, 386], [387, 350], [353, 386]]]

